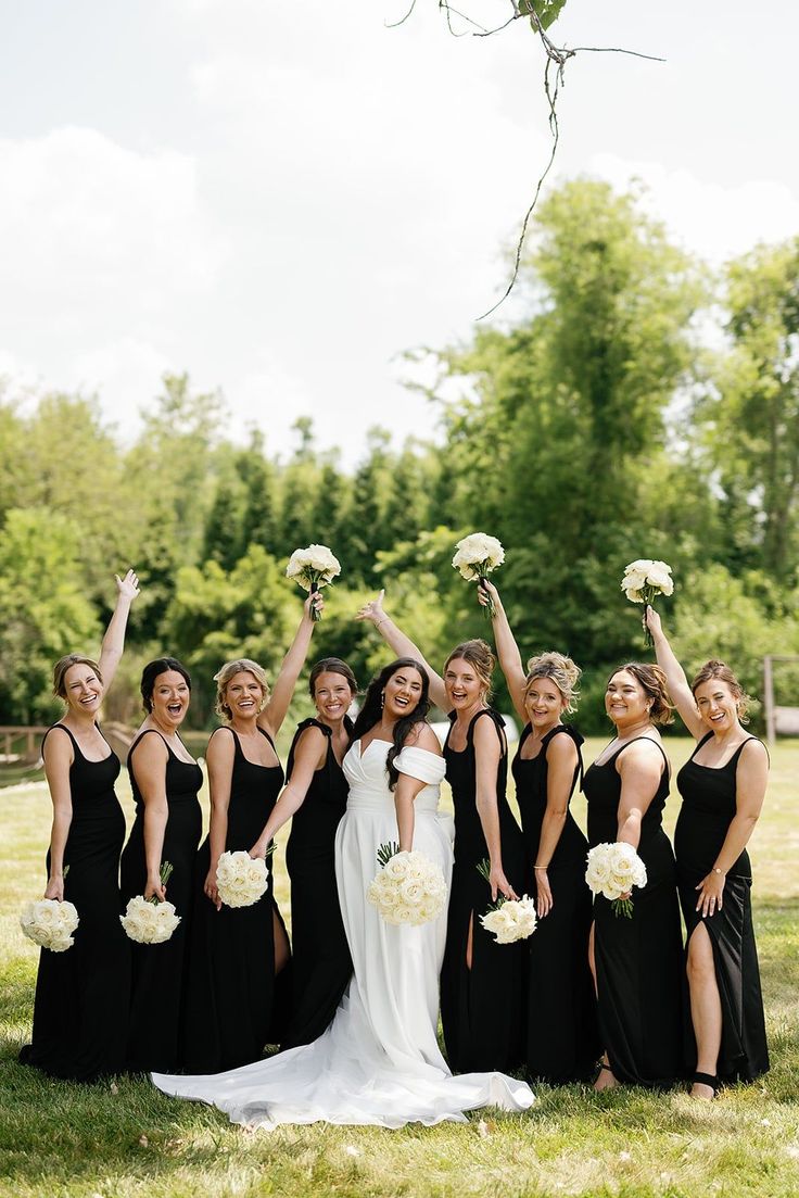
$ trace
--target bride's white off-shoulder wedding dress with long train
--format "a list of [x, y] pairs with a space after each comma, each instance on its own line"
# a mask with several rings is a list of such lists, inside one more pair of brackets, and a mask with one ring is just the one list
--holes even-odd
[[[333, 1022], [310, 1045], [228, 1073], [153, 1073], [167, 1094], [213, 1103], [232, 1123], [259, 1127], [316, 1120], [429, 1125], [464, 1121], [464, 1112], [476, 1107], [523, 1111], [533, 1102], [525, 1082], [504, 1073], [453, 1077], [441, 1055], [436, 1028], [446, 912], [419, 927], [398, 927], [367, 902], [377, 847], [397, 840], [386, 772], [389, 748], [386, 740], [371, 740], [362, 754], [357, 740], [344, 758], [350, 797], [335, 837], [335, 876], [355, 973]], [[425, 749], [406, 746], [395, 763], [426, 783], [413, 804], [413, 848], [438, 863], [449, 885], [452, 841], [437, 816], [444, 762]]]

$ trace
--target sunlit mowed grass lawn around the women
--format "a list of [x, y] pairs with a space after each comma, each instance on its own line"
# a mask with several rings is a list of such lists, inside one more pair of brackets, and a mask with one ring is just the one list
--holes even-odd
[[[589, 743], [591, 761], [603, 742]], [[671, 739], [677, 768], [690, 751]], [[751, 845], [755, 927], [771, 1072], [714, 1103], [680, 1090], [537, 1088], [523, 1115], [474, 1113], [467, 1124], [248, 1132], [210, 1107], [178, 1102], [145, 1079], [97, 1087], [50, 1082], [17, 1065], [30, 1033], [37, 950], [22, 903], [43, 889], [50, 804], [41, 783], [0, 791], [0, 1194], [774, 1196], [799, 1193], [799, 742], [781, 744]], [[129, 813], [127, 785], [120, 782]], [[668, 809], [673, 827], [677, 801]], [[575, 815], [585, 827], [585, 803]], [[285, 843], [285, 835], [282, 837]], [[278, 897], [287, 907], [282, 853]], [[287, 914], [287, 912], [286, 912]], [[546, 979], [541, 979], [546, 985]], [[497, 993], [497, 1018], [503, 996]], [[158, 1018], [158, 1010], [152, 1012]]]

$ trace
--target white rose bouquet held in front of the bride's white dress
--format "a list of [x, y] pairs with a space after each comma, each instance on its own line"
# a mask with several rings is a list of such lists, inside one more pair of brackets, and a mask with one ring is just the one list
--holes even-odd
[[447, 901], [441, 867], [424, 853], [401, 852], [397, 842], [377, 849], [377, 871], [367, 898], [387, 924], [428, 924]]

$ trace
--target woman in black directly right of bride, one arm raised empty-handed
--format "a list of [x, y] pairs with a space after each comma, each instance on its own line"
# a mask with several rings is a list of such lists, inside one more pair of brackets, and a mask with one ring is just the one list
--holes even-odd
[[[498, 895], [523, 889], [525, 847], [506, 797], [504, 722], [488, 706], [494, 654], [484, 641], [465, 641], [444, 662], [443, 678], [386, 615], [383, 592], [359, 612], [398, 655], [418, 659], [430, 676], [430, 697], [449, 712], [444, 742], [447, 781], [455, 809], [447, 946], [441, 973], [441, 1019], [455, 1072], [508, 1071], [523, 1060], [525, 946], [497, 944], [479, 916]], [[478, 865], [489, 861], [486, 884]]]

